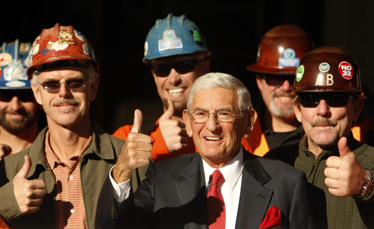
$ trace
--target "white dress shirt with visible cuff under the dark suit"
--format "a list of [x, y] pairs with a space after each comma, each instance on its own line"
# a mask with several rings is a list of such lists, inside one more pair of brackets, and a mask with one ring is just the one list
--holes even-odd
[[[211, 175], [216, 170], [206, 163], [203, 159], [203, 168], [205, 175], [206, 192], [208, 192], [209, 180]], [[114, 165], [115, 166], [115, 165]], [[112, 170], [109, 171], [109, 178], [114, 188], [113, 197], [117, 204], [127, 199], [130, 194], [131, 179], [117, 184], [112, 177]], [[226, 228], [235, 228], [237, 208], [239, 206], [240, 187], [242, 186], [242, 173], [243, 173], [243, 149], [240, 147], [239, 153], [224, 167], [219, 168], [223, 178], [225, 179], [220, 184], [220, 190], [225, 201], [226, 207]]]

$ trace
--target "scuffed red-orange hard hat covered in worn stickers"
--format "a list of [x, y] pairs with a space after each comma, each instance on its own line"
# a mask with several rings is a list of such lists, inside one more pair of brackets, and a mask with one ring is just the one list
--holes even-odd
[[[43, 64], [62, 60], [78, 60], [74, 66], [88, 60], [92, 62], [96, 72], [99, 71], [99, 64], [95, 61], [95, 54], [87, 37], [72, 25], [62, 26], [56, 23], [53, 28], [43, 29], [42, 34], [31, 45], [27, 76], [31, 79], [33, 70], [40, 70]], [[87, 67], [87, 61], [82, 67]]]

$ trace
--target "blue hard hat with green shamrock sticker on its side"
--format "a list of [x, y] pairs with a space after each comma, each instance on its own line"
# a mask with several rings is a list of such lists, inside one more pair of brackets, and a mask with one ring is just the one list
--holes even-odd
[[166, 18], [157, 19], [148, 32], [142, 61], [146, 64], [151, 59], [199, 51], [205, 52], [205, 57], [211, 55], [199, 27], [184, 15], [177, 17], [169, 13]]

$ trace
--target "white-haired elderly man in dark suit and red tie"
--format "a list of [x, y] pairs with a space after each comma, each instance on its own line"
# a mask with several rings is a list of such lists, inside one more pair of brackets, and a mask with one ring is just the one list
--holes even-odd
[[305, 174], [241, 146], [257, 118], [242, 82], [208, 73], [193, 84], [187, 108], [186, 130], [199, 153], [149, 165], [133, 193], [132, 171], [151, 157], [135, 111], [132, 134], [102, 187], [96, 228], [313, 228]]

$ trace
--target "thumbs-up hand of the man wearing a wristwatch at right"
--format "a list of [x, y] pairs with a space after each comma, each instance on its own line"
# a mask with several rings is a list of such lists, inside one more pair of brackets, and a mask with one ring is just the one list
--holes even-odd
[[326, 161], [325, 184], [334, 196], [359, 195], [368, 179], [366, 171], [349, 149], [346, 137], [340, 138], [338, 149], [340, 157], [330, 156]]

